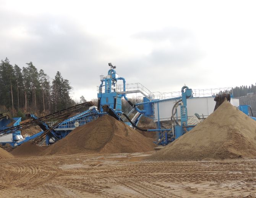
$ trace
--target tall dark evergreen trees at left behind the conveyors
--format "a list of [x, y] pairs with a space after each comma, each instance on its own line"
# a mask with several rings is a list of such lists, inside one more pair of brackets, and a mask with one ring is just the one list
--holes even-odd
[[70, 83], [60, 72], [51, 81], [32, 62], [26, 65], [22, 69], [13, 66], [8, 58], [0, 62], [0, 113], [6, 110], [13, 116], [26, 112], [41, 116], [75, 105]]

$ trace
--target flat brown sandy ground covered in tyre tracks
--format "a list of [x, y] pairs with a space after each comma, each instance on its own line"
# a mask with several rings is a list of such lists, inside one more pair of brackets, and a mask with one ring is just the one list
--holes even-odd
[[255, 197], [256, 160], [148, 162], [149, 153], [0, 161], [0, 197]]

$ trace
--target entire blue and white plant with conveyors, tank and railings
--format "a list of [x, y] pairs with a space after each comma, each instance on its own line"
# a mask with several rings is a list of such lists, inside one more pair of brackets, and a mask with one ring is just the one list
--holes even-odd
[[[1, 128], [0, 144], [9, 143], [14, 147], [27, 141], [33, 141], [35, 144], [44, 143], [45, 141], [45, 144], [49, 145], [64, 138], [76, 127], [108, 114], [141, 131], [156, 131], [156, 143], [166, 145], [193, 129], [203, 120], [202, 118], [210, 115], [214, 111], [214, 106], [223, 102], [223, 96], [229, 96], [230, 103], [237, 107], [239, 106], [239, 99], [233, 99], [229, 93], [224, 93], [227, 95], [214, 98], [215, 93], [211, 89], [210, 94], [204, 94], [201, 97], [197, 91], [193, 92], [188, 86], [183, 86], [176, 95], [173, 93], [160, 93], [157, 96], [140, 83], [126, 84], [125, 78], [118, 77], [115, 71], [116, 67], [111, 63], [109, 63], [109, 66], [110, 69], [107, 75], [100, 75], [101, 83], [97, 87], [97, 107], [93, 106], [92, 102], [85, 102], [41, 118], [32, 113], [28, 114], [30, 119], [21, 125], [17, 121], [12, 127]], [[119, 81], [122, 81], [122, 83], [118, 84]], [[199, 91], [202, 92], [202, 90]], [[219, 92], [220, 90], [217, 91], [217, 93]], [[126, 96], [127, 94], [135, 93], [143, 96], [143, 102], [135, 102], [133, 104]], [[170, 97], [163, 97], [163, 95], [166, 96], [168, 94]], [[128, 102], [130, 108], [122, 110], [122, 98]], [[4, 117], [4, 115], [2, 116]], [[138, 123], [141, 117], [151, 118], [156, 123], [156, 129], [139, 128]], [[41, 132], [32, 136], [21, 136], [21, 130], [36, 125], [41, 127]], [[4, 139], [9, 136], [11, 138], [8, 140]]]

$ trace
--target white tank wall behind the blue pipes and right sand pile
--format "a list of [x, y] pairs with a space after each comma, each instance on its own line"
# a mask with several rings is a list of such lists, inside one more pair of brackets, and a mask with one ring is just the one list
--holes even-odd
[[[164, 101], [159, 102], [159, 120], [171, 120], [172, 107], [176, 101]], [[236, 107], [239, 106], [239, 99], [231, 98], [230, 103]], [[187, 111], [188, 118], [193, 117], [195, 113], [198, 113], [201, 118], [208, 117], [214, 110], [216, 102], [214, 97], [191, 97], [187, 99]], [[180, 106], [178, 106], [178, 119], [180, 119]], [[154, 104], [154, 122], [158, 120], [157, 103]]]

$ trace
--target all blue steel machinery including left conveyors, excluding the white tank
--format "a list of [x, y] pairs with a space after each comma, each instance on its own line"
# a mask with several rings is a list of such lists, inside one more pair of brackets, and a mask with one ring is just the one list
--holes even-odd
[[[15, 133], [18, 133], [20, 135], [20, 130], [36, 125], [39, 125], [43, 131], [34, 134], [33, 136], [25, 137], [21, 140], [17, 140], [14, 138], [12, 142], [0, 142], [0, 144], [10, 143], [12, 146], [17, 146], [30, 140], [32, 140], [34, 143], [39, 143], [43, 139], [45, 139], [45, 142], [48, 145], [50, 144], [50, 142], [56, 142], [62, 139], [76, 127], [85, 125], [86, 123], [95, 120], [99, 116], [105, 114], [109, 114], [110, 116], [114, 117], [119, 121], [123, 121], [126, 118], [129, 121], [129, 125], [141, 131], [156, 131], [157, 139], [159, 140], [157, 144], [163, 145], [169, 144], [186, 132], [190, 131], [195, 126], [188, 125], [187, 99], [193, 97], [192, 89], [189, 89], [188, 86], [183, 86], [181, 88], [180, 97], [160, 100], [154, 99], [151, 96], [145, 96], [143, 97], [143, 102], [132, 104], [132, 102], [126, 97], [126, 94], [136, 92], [126, 90], [125, 78], [118, 77], [118, 74], [115, 71], [116, 67], [113, 66], [111, 63], [109, 63], [109, 66], [110, 69], [107, 73], [107, 76], [100, 76], [101, 84], [98, 89], [97, 107], [92, 106], [92, 102], [85, 102], [41, 118], [37, 118], [34, 114], [29, 114], [31, 119], [28, 122], [21, 125], [15, 124], [16, 126], [13, 126], [11, 128], [2, 129], [2, 131], [0, 131], [0, 137]], [[123, 81], [122, 90], [118, 90], [118, 80]], [[122, 111], [122, 98], [124, 98], [131, 105], [131, 107], [137, 111], [133, 119], [130, 119], [128, 115], [126, 115], [126, 113]], [[171, 120], [173, 123], [170, 128], [165, 128], [159, 119], [159, 114], [161, 113], [159, 112], [159, 103], [164, 101], [174, 101], [173, 108], [170, 109], [170, 111], [172, 112]], [[180, 120], [178, 120], [178, 105], [180, 105]], [[143, 110], [138, 108], [141, 106], [143, 106]], [[155, 115], [154, 108], [157, 108], [157, 115]], [[246, 109], [246, 107], [244, 107], [243, 109]], [[243, 112], [245, 111], [246, 110], [244, 110]], [[139, 128], [137, 125], [139, 119], [142, 116], [151, 119], [157, 119], [157, 129]]]

